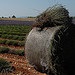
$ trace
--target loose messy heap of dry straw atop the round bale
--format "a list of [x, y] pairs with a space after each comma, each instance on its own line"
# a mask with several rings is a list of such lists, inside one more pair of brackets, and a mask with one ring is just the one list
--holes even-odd
[[72, 22], [69, 12], [62, 5], [54, 5], [49, 7], [43, 13], [36, 17], [33, 27], [39, 27], [41, 30], [45, 27], [53, 27], [59, 25], [70, 25]]

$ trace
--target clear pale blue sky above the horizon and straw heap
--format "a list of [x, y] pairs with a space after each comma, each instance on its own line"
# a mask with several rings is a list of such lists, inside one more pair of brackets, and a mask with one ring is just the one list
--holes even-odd
[[66, 7], [70, 16], [75, 16], [75, 0], [0, 0], [0, 17], [37, 16], [57, 3]]

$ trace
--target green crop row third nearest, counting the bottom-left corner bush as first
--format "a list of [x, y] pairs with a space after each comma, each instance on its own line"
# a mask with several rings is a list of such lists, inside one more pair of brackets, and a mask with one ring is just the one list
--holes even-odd
[[24, 46], [24, 41], [15, 41], [15, 40], [8, 40], [8, 39], [0, 39], [0, 44], [4, 45], [14, 45], [14, 46]]

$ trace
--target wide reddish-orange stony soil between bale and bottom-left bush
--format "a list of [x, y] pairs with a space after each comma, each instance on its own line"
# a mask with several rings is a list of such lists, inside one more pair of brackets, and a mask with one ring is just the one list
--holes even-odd
[[0, 54], [0, 58], [9, 61], [15, 68], [13, 73], [8, 73], [7, 75], [46, 75], [45, 73], [36, 71], [32, 66], [30, 66], [24, 56]]

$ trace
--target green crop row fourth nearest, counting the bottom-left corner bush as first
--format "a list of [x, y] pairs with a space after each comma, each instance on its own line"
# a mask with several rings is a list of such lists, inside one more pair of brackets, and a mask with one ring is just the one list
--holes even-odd
[[18, 36], [18, 35], [8, 35], [8, 34], [0, 34], [0, 38], [4, 39], [12, 39], [12, 40], [19, 40], [19, 41], [24, 41], [25, 36]]

